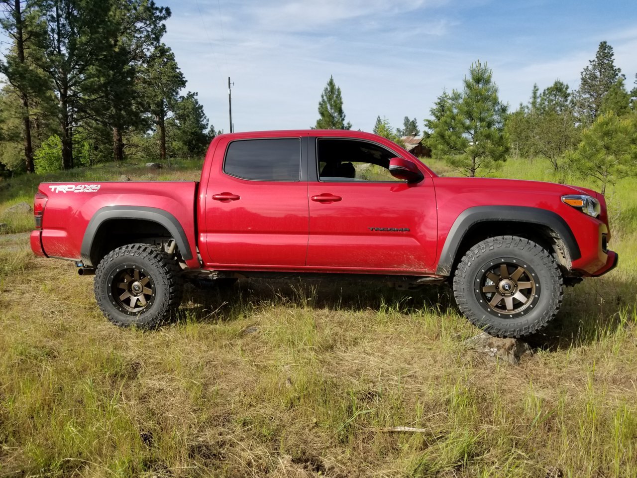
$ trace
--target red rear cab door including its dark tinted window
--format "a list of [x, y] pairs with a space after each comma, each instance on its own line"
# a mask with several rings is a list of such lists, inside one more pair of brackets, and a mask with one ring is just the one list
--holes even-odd
[[217, 145], [200, 231], [206, 265], [238, 270], [304, 266], [306, 141], [227, 138]]

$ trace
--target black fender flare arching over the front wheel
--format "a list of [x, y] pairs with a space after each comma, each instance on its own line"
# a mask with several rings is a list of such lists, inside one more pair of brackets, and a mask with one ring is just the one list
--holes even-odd
[[487, 221], [526, 222], [546, 226], [564, 242], [571, 261], [582, 257], [573, 231], [564, 218], [553, 211], [530, 206], [474, 206], [462, 211], [451, 226], [440, 253], [436, 274], [451, 275], [458, 247], [464, 236], [478, 222]]

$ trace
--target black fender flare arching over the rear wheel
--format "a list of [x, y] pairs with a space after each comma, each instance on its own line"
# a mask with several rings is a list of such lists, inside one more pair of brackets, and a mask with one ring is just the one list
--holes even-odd
[[92, 264], [90, 259], [93, 241], [99, 228], [104, 222], [111, 219], [143, 219], [144, 221], [157, 222], [157, 224], [164, 226], [173, 237], [183, 259], [186, 261], [192, 259], [192, 250], [190, 250], [188, 237], [183, 231], [182, 224], [169, 212], [148, 206], [104, 206], [98, 209], [93, 217], [90, 218], [89, 225], [84, 232], [80, 256], [86, 265], [97, 265]]

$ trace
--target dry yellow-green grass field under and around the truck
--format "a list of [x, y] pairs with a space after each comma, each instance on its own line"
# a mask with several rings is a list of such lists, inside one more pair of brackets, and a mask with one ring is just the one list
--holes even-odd
[[[121, 174], [148, 178], [37, 182]], [[497, 175], [553, 179], [541, 162]], [[3, 212], [34, 184], [0, 185], [11, 232], [31, 228]], [[476, 329], [445, 286], [189, 286], [175, 324], [120, 330], [91, 277], [0, 235], [0, 477], [637, 477], [634, 191], [608, 193], [619, 267], [567, 289], [517, 367], [464, 349]]]

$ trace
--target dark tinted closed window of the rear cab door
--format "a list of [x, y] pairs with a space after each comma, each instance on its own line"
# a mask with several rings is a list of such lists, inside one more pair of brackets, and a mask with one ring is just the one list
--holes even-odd
[[298, 181], [301, 140], [233, 141], [225, 154], [224, 173], [256, 181]]

